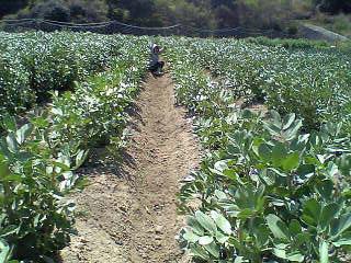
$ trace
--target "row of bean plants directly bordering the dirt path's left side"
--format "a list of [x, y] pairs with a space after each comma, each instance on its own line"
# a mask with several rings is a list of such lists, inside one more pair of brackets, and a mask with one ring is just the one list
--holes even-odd
[[[148, 59], [146, 39], [120, 38], [121, 53], [110, 59], [106, 71], [77, 82], [75, 92], [54, 93], [52, 104], [30, 114], [24, 126], [13, 117], [3, 119], [0, 262], [52, 262], [69, 240], [73, 204], [65, 195], [79, 182], [75, 171], [93, 147], [113, 144], [118, 150], [128, 117], [125, 110]], [[83, 53], [100, 54], [89, 48]]]

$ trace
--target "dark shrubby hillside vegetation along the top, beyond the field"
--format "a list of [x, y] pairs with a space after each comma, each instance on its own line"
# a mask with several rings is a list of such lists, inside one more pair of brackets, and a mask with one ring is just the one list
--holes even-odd
[[[348, 0], [14, 0], [2, 3], [0, 15], [77, 23], [118, 20], [143, 26], [245, 26], [294, 33], [296, 27], [286, 21], [321, 21], [320, 14], [330, 18], [350, 11]], [[336, 22], [337, 30], [344, 26], [340, 21]]]

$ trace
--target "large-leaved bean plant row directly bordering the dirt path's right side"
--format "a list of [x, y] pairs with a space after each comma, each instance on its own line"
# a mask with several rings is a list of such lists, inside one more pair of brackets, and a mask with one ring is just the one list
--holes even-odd
[[[249, 84], [264, 88], [258, 78], [264, 65], [254, 62], [272, 50], [256, 49], [263, 57], [252, 60], [252, 50], [230, 55], [231, 47], [225, 46], [223, 57], [238, 56], [233, 58], [237, 64], [231, 62], [237, 72], [230, 79], [236, 82], [229, 87], [226, 79], [214, 80], [194, 55], [202, 53], [199, 47], [218, 44], [211, 42], [178, 39], [167, 54], [178, 102], [195, 114], [195, 130], [206, 151], [179, 194], [180, 210], [189, 216], [182, 245], [196, 262], [349, 262], [351, 137], [344, 124], [324, 122], [318, 132], [303, 133], [305, 123], [295, 113], [238, 108], [239, 98], [250, 98]], [[207, 62], [223, 61], [216, 54], [210, 49]], [[212, 66], [214, 72], [230, 68]], [[294, 81], [291, 77], [286, 73], [286, 81]]]

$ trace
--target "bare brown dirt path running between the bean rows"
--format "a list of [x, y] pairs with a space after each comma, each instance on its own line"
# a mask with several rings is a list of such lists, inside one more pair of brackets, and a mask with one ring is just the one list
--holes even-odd
[[147, 79], [137, 106], [123, 172], [90, 171], [91, 184], [73, 196], [81, 216], [65, 263], [186, 262], [174, 239], [183, 220], [176, 193], [199, 163], [191, 122], [174, 107], [168, 75]]

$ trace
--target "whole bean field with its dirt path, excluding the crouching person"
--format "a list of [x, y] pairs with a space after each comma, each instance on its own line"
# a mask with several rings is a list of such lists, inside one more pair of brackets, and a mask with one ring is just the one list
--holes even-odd
[[[0, 262], [350, 262], [348, 54], [304, 41], [0, 35]], [[162, 77], [147, 72], [152, 42], [166, 47]], [[89, 175], [106, 158], [98, 149], [118, 170], [103, 182]], [[124, 197], [109, 190], [124, 184]], [[83, 228], [91, 218], [107, 227]], [[58, 259], [76, 256], [79, 232], [80, 260]]]

